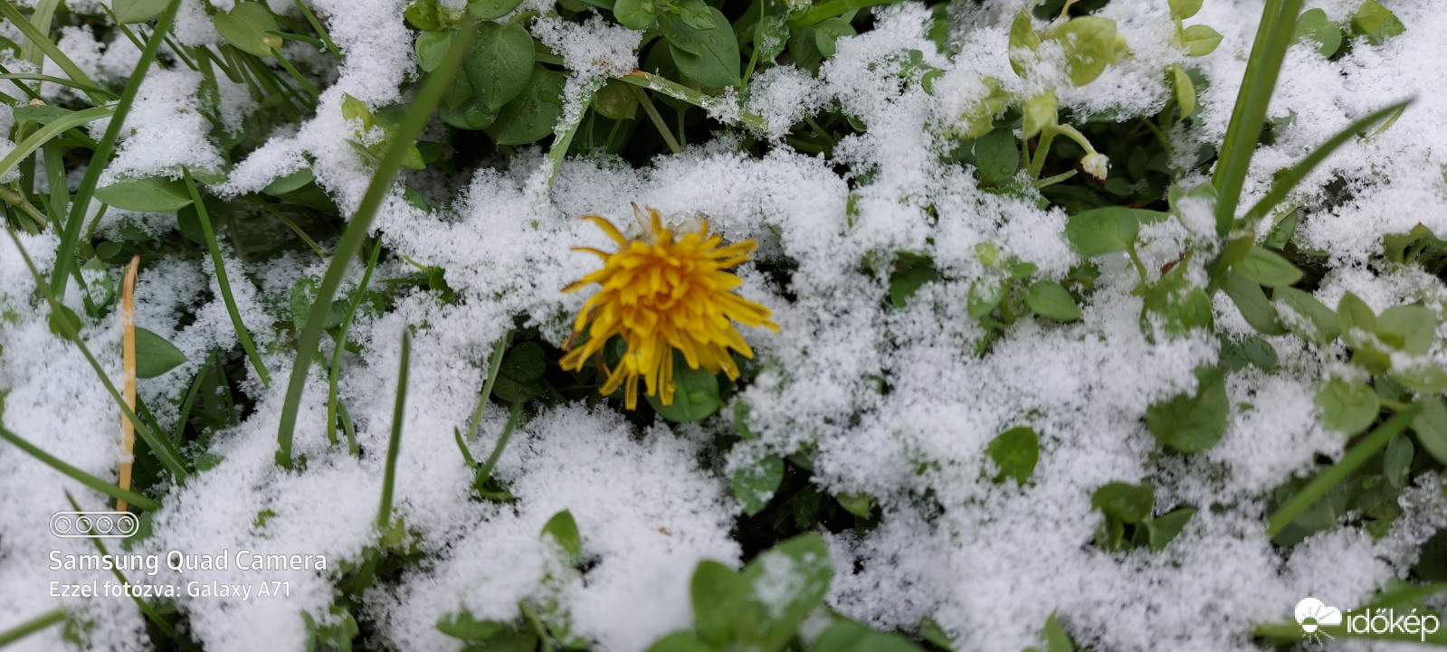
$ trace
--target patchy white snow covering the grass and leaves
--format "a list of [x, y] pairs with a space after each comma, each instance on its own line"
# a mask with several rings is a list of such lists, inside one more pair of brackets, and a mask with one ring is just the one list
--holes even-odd
[[[216, 1], [217, 9], [230, 3]], [[278, 10], [289, 3], [273, 1]], [[328, 16], [331, 38], [346, 59], [330, 80], [314, 116], [279, 130], [213, 189], [255, 192], [310, 166], [350, 215], [370, 182], [370, 169], [349, 139], [341, 97], [372, 108], [408, 101], [398, 91], [417, 78], [412, 35], [399, 0], [314, 0]], [[968, 3], [956, 3], [968, 4]], [[556, 600], [574, 632], [599, 649], [645, 649], [692, 623], [689, 578], [702, 559], [738, 567], [744, 551], [731, 536], [738, 503], [726, 470], [767, 454], [809, 454], [815, 481], [829, 493], [865, 493], [883, 519], [867, 533], [829, 535], [835, 580], [829, 604], [887, 629], [917, 629], [930, 617], [961, 636], [964, 649], [1019, 651], [1039, 646], [1042, 626], [1055, 613], [1077, 642], [1091, 649], [1137, 652], [1250, 651], [1253, 625], [1289, 617], [1305, 596], [1328, 604], [1360, 604], [1415, 561], [1415, 546], [1443, 525], [1438, 480], [1427, 477], [1404, 494], [1406, 512], [1382, 539], [1356, 526], [1324, 531], [1291, 551], [1266, 538], [1263, 494], [1308, 473], [1318, 457], [1340, 458], [1346, 441], [1315, 418], [1320, 379], [1338, 373], [1343, 351], [1318, 351], [1294, 335], [1268, 341], [1281, 357], [1276, 370], [1256, 367], [1227, 377], [1231, 415], [1226, 435], [1210, 451], [1162, 451], [1145, 428], [1149, 405], [1195, 387], [1192, 370], [1215, 363], [1220, 341], [1207, 333], [1168, 337], [1142, 333], [1140, 280], [1124, 256], [1097, 260], [1101, 276], [1069, 324], [1024, 317], [984, 354], [975, 354], [984, 328], [965, 317], [972, 283], [998, 269], [980, 247], [1037, 266], [1036, 279], [1062, 279], [1084, 260], [1065, 241], [1066, 215], [1039, 208], [1032, 191], [985, 192], [975, 173], [951, 163], [949, 129], [987, 94], [984, 75], [1006, 91], [1056, 91], [1062, 110], [1077, 116], [1116, 111], [1120, 120], [1152, 120], [1168, 101], [1163, 71], [1198, 67], [1210, 81], [1198, 88], [1197, 113], [1168, 132], [1179, 153], [1218, 143], [1226, 132], [1259, 1], [1208, 0], [1188, 25], [1210, 25], [1220, 48], [1188, 58], [1176, 46], [1163, 3], [1114, 0], [1103, 16], [1120, 22], [1132, 55], [1095, 82], [1072, 88], [1046, 52], [1040, 75], [1016, 77], [1006, 58], [1009, 22], [1024, 3], [955, 7], [952, 46], [941, 52], [926, 38], [932, 13], [919, 3], [877, 10], [870, 30], [842, 38], [818, 75], [793, 67], [761, 69], [742, 93], [741, 108], [764, 119], [761, 153], [744, 150], [742, 129], [690, 143], [682, 153], [632, 168], [609, 158], [572, 158], [548, 179], [540, 147], [519, 147], [508, 169], [470, 171], [462, 181], [417, 175], [417, 185], [446, 195], [444, 210], [423, 211], [394, 194], [372, 234], [385, 244], [373, 280], [407, 275], [418, 265], [446, 269], [459, 301], [402, 292], [385, 314], [359, 312], [343, 356], [339, 395], [356, 422], [362, 455], [327, 444], [326, 370], [313, 364], [301, 402], [294, 454], [302, 470], [273, 464], [279, 412], [294, 346], [288, 330], [289, 292], [301, 278], [320, 278], [326, 263], [311, 252], [252, 260], [223, 243], [223, 260], [242, 321], [256, 338], [271, 385], [246, 366], [237, 379], [255, 409], [205, 445], [220, 457], [185, 486], [161, 496], [153, 535], [142, 551], [324, 555], [327, 571], [362, 559], [376, 545], [373, 529], [382, 468], [392, 428], [392, 400], [404, 330], [412, 333], [408, 403], [396, 470], [395, 515], [407, 545], [427, 561], [366, 594], [359, 616], [383, 645], [399, 649], [462, 649], [437, 630], [440, 617], [466, 609], [479, 619], [509, 620], [519, 603]], [[1333, 20], [1346, 20], [1353, 1], [1323, 1]], [[1334, 306], [1346, 293], [1375, 311], [1411, 302], [1441, 311], [1443, 282], [1420, 269], [1386, 269], [1373, 262], [1383, 234], [1421, 223], [1447, 233], [1447, 56], [1435, 36], [1447, 16], [1431, 3], [1388, 1], [1408, 26], [1380, 46], [1356, 43], [1340, 61], [1307, 46], [1286, 56], [1269, 116], [1272, 145], [1257, 150], [1242, 213], [1265, 195], [1272, 175], [1312, 150], [1353, 120], [1406, 95], [1417, 95], [1396, 124], [1353, 139], [1294, 191], [1302, 205], [1298, 243], [1320, 249], [1330, 272], [1315, 296]], [[525, 3], [522, 9], [546, 9]], [[593, 16], [582, 22], [540, 17], [531, 33], [564, 61], [570, 78], [569, 113], [606, 75], [635, 62], [641, 35]], [[1043, 26], [1043, 23], [1037, 25]], [[187, 0], [178, 14], [182, 43], [214, 43], [201, 3]], [[117, 45], [120, 43], [120, 45]], [[98, 43], [84, 29], [67, 29], [61, 46], [98, 78], [119, 80], [135, 61], [129, 42]], [[942, 74], [933, 93], [919, 82], [909, 51], [922, 52]], [[1045, 48], [1049, 51], [1049, 46]], [[132, 62], [132, 64], [127, 64]], [[7, 64], [9, 65], [9, 64]], [[46, 74], [61, 74], [48, 64]], [[221, 169], [224, 162], [200, 114], [200, 75], [187, 68], [152, 69], [127, 120], [119, 156], [106, 179], [175, 176], [181, 166]], [[46, 85], [52, 98], [72, 91]], [[229, 129], [256, 107], [239, 85], [221, 87]], [[732, 101], [735, 98], [729, 98]], [[732, 104], [731, 104], [732, 106]], [[839, 110], [867, 129], [841, 139], [831, 159], [794, 152], [781, 140], [800, 119]], [[726, 117], [726, 113], [719, 113]], [[1062, 116], [1068, 116], [1062, 113]], [[0, 111], [0, 126], [10, 126]], [[1064, 117], [1062, 117], [1064, 119]], [[104, 129], [96, 123], [93, 129]], [[9, 129], [6, 129], [9, 132]], [[755, 134], [757, 136], [757, 134]], [[1103, 143], [1097, 143], [1103, 145]], [[0, 142], [0, 153], [13, 146]], [[1101, 147], [1104, 149], [1104, 147]], [[1181, 156], [1176, 158], [1181, 163]], [[1090, 162], [1100, 163], [1097, 159]], [[1188, 168], [1182, 163], [1182, 168]], [[1113, 168], [1120, 162], [1113, 162]], [[1182, 186], [1205, 182], [1208, 169], [1184, 169]], [[1344, 179], [1351, 198], [1334, 205], [1325, 185]], [[606, 405], [537, 406], [525, 413], [504, 451], [496, 476], [518, 496], [493, 503], [472, 496], [473, 468], [462, 458], [454, 429], [467, 432], [495, 343], [518, 319], [561, 346], [583, 295], [560, 288], [592, 270], [574, 246], [608, 247], [606, 236], [577, 220], [599, 214], [625, 224], [631, 202], [653, 207], [671, 224], [705, 215], [710, 228], [737, 241], [757, 239], [763, 263], [787, 260], [787, 278], [757, 263], [738, 269], [739, 292], [774, 311], [780, 334], [745, 330], [760, 369], [732, 400], [747, 406], [747, 441], [718, 464], [706, 464], [713, 435], [726, 418], [696, 426], [657, 422], [637, 426]], [[1142, 230], [1140, 256], [1152, 279], [1185, 246], [1210, 252], [1214, 217], [1204, 200], [1175, 207], [1178, 217]], [[103, 233], [123, 220], [162, 224], [168, 215], [111, 211]], [[169, 223], [166, 223], [168, 227]], [[1266, 228], [1259, 228], [1266, 233]], [[45, 273], [54, 265], [55, 236], [19, 236]], [[888, 269], [899, 252], [928, 254], [941, 279], [926, 283], [903, 309], [888, 305], [888, 278], [862, 262]], [[1191, 259], [1187, 278], [1205, 282], [1207, 256]], [[356, 288], [353, 265], [343, 292]], [[119, 275], [111, 275], [119, 283]], [[0, 239], [0, 396], [4, 428], [104, 480], [116, 477], [120, 455], [111, 398], [69, 343], [54, 335], [49, 309], [32, 292], [33, 280], [12, 241]], [[234, 351], [236, 335], [220, 299], [208, 259], [161, 256], [143, 266], [136, 291], [137, 322], [164, 334], [185, 356], [177, 370], [142, 380], [142, 399], [162, 429], [175, 428], [179, 396], [213, 350]], [[67, 305], [84, 312], [80, 291]], [[187, 319], [181, 319], [185, 314]], [[1250, 334], [1223, 295], [1214, 301], [1218, 333]], [[1299, 318], [1283, 314], [1285, 319]], [[120, 330], [116, 317], [85, 318], [82, 337], [113, 379], [119, 379]], [[1441, 335], [1441, 333], [1438, 333]], [[323, 359], [333, 343], [324, 338]], [[1443, 361], [1441, 344], [1433, 351]], [[734, 415], [725, 406], [724, 415]], [[491, 405], [467, 445], [485, 458], [506, 421]], [[1001, 431], [1029, 425], [1040, 437], [1040, 457], [1026, 486], [994, 484], [985, 445]], [[703, 460], [703, 461], [700, 461]], [[1110, 481], [1152, 481], [1155, 515], [1176, 506], [1200, 510], [1162, 552], [1106, 552], [1090, 545], [1101, 519], [1091, 492]], [[45, 522], [69, 509], [69, 492], [82, 506], [100, 499], [13, 447], [0, 447], [0, 493], [25, 496], [0, 519], [0, 630], [54, 606], [38, 599], [54, 572], [49, 549], [88, 552], [84, 541], [52, 539]], [[579, 525], [583, 571], [567, 568], [538, 532], [567, 509]], [[259, 518], [265, 512], [265, 525]], [[792, 594], [799, 578], [783, 555], [765, 557], [760, 597]], [[81, 575], [74, 577], [77, 581]], [[187, 572], [166, 581], [247, 583], [243, 568]], [[85, 577], [90, 580], [91, 577]], [[96, 578], [104, 580], [101, 574]], [[207, 651], [302, 649], [301, 613], [324, 619], [334, 600], [334, 575], [266, 571], [289, 581], [285, 600], [184, 597], [177, 607]], [[1249, 587], [1250, 590], [1243, 590]], [[145, 622], [130, 601], [82, 604], [101, 649], [142, 649]], [[59, 649], [59, 629], [41, 632], [19, 649]]]

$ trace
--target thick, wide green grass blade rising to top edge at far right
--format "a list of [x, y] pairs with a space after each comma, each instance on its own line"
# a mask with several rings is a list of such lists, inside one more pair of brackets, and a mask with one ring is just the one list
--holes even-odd
[[1301, 0], [1266, 0], [1266, 7], [1262, 10], [1260, 27], [1256, 30], [1250, 59], [1246, 62], [1242, 90], [1236, 95], [1236, 108], [1231, 110], [1231, 121], [1226, 127], [1221, 155], [1215, 163], [1215, 173], [1211, 176], [1217, 191], [1217, 236], [1224, 237], [1230, 233], [1236, 220], [1236, 207], [1242, 201], [1242, 186], [1246, 184], [1246, 171], [1252, 163], [1256, 143], [1260, 140], [1262, 124], [1266, 121], [1266, 106], [1276, 88], [1281, 62], [1286, 56], [1286, 48], [1291, 46], [1299, 13]]

